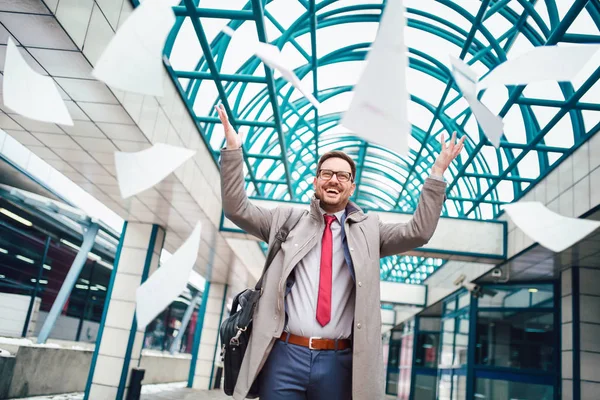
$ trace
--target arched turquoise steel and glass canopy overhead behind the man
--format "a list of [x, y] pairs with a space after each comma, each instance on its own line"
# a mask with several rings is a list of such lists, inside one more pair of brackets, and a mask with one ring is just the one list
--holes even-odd
[[[387, 0], [400, 1], [400, 0]], [[404, 1], [409, 65], [409, 153], [400, 156], [340, 125], [378, 31], [381, 0], [183, 0], [165, 63], [215, 160], [224, 145], [214, 106], [246, 133], [247, 192], [307, 202], [320, 154], [357, 163], [353, 200], [370, 210], [412, 213], [442, 134], [466, 136], [450, 167], [444, 215], [494, 219], [600, 129], [600, 68], [577, 83], [490, 88], [481, 101], [504, 119], [500, 147], [485, 138], [450, 75], [450, 56], [480, 75], [534, 46], [600, 43], [600, 3], [587, 0]], [[224, 29], [225, 28], [225, 29]], [[224, 33], [228, 31], [229, 34]], [[233, 32], [231, 32], [233, 30]], [[231, 36], [230, 36], [231, 35]], [[254, 49], [276, 45], [316, 109], [267, 68]], [[382, 77], [385, 79], [385, 77]], [[437, 259], [382, 260], [384, 280], [422, 283]]]

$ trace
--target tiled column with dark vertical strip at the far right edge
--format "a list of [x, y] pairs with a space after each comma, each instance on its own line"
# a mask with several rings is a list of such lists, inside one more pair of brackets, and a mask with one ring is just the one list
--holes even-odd
[[592, 400], [600, 392], [600, 270], [561, 273], [562, 398]]

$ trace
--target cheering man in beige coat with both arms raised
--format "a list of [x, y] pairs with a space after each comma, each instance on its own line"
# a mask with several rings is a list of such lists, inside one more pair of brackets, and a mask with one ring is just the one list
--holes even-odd
[[[244, 189], [241, 139], [217, 107], [225, 129], [221, 197], [227, 218], [270, 243], [301, 210], [265, 209]], [[423, 185], [408, 223], [384, 224], [366, 215], [350, 196], [354, 161], [324, 154], [317, 165], [310, 211], [289, 233], [270, 265], [254, 314], [253, 331], [234, 399], [258, 379], [261, 400], [373, 400], [384, 397], [379, 259], [428, 242], [445, 199], [444, 171], [463, 148], [456, 134]]]

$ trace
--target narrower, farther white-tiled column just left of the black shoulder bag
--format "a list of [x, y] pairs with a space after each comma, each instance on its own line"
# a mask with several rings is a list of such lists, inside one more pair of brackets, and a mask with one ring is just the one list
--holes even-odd
[[188, 387], [212, 389], [214, 386], [214, 376], [221, 362], [219, 327], [226, 312], [227, 286], [223, 283], [206, 282], [194, 333]]

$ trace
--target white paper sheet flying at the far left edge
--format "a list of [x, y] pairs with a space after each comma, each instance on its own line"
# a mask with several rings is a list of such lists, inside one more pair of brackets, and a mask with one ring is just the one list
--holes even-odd
[[16, 113], [38, 121], [73, 125], [54, 80], [35, 72], [10, 37], [2, 90], [4, 104]]

